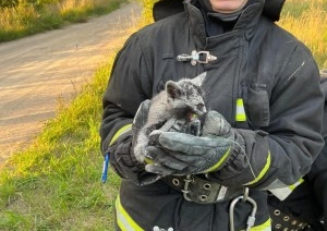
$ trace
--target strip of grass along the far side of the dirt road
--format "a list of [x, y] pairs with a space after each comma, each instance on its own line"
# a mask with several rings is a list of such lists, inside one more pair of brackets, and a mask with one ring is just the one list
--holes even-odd
[[84, 23], [102, 15], [128, 0], [62, 0], [36, 7], [21, 1], [16, 8], [0, 8], [0, 42], [60, 28], [69, 23]]

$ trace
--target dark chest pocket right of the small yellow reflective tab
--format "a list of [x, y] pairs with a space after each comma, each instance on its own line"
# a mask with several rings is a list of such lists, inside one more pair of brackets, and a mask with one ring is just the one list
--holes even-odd
[[270, 120], [269, 95], [265, 84], [244, 84], [242, 98], [250, 126], [259, 129], [268, 126]]

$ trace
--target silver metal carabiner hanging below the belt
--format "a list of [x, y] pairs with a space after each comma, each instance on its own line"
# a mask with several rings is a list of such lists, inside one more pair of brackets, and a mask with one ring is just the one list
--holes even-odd
[[249, 202], [252, 205], [252, 211], [249, 215], [247, 221], [246, 221], [246, 224], [247, 224], [246, 231], [249, 231], [251, 229], [251, 227], [254, 226], [257, 205], [256, 205], [256, 202], [249, 196], [249, 187], [245, 187], [243, 196], [239, 196], [239, 197], [234, 198], [229, 206], [230, 231], [234, 231], [234, 207], [240, 199], [243, 199], [244, 203]]

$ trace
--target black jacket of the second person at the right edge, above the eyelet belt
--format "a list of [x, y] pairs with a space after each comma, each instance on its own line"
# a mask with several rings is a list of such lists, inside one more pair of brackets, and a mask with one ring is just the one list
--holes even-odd
[[[314, 160], [311, 171], [284, 200], [269, 196], [269, 204], [298, 220], [308, 223], [311, 230], [327, 231], [327, 72], [322, 74], [322, 89], [325, 95], [323, 136], [325, 146]], [[274, 218], [272, 218], [274, 219]], [[319, 222], [324, 219], [324, 228]]]

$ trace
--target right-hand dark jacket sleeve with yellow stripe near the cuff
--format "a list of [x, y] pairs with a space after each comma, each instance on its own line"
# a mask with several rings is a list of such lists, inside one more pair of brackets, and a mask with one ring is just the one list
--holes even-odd
[[215, 173], [225, 185], [290, 187], [310, 171], [323, 148], [324, 96], [317, 65], [307, 48], [298, 46], [276, 75], [269, 125], [263, 131], [237, 129], [245, 149]]

